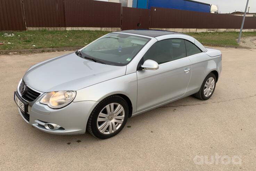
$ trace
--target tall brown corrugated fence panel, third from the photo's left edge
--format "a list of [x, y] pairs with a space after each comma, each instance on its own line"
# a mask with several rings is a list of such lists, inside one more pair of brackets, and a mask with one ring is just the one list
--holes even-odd
[[66, 27], [121, 27], [121, 3], [64, 0]]

